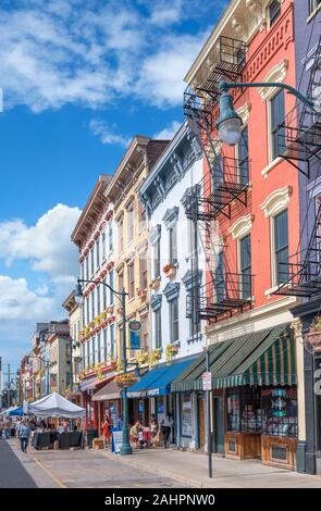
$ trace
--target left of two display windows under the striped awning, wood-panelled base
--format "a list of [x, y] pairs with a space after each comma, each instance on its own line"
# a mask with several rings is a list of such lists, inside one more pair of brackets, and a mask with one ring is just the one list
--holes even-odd
[[227, 431], [243, 433], [261, 431], [259, 389], [246, 386], [227, 391]]

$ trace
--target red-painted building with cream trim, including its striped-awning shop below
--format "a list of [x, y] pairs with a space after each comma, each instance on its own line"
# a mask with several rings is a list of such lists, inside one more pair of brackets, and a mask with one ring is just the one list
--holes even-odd
[[[289, 228], [299, 223], [299, 177], [279, 130], [295, 100], [272, 85], [233, 89], [243, 132], [230, 147], [217, 130], [221, 79], [296, 86], [293, 1], [231, 1], [187, 73], [184, 109], [203, 152], [196, 214], [212, 240], [198, 311], [208, 322], [213, 448], [294, 469], [306, 438], [304, 353], [297, 298], [277, 291], [300, 242]], [[172, 388], [201, 390], [200, 377], [192, 367]]]

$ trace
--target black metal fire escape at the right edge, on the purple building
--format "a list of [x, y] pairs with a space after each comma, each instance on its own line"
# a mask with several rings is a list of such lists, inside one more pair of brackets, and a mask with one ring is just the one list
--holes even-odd
[[[321, 37], [311, 67], [307, 97], [321, 97]], [[321, 117], [307, 107], [297, 108], [279, 126], [284, 160], [292, 163], [307, 178], [310, 164], [321, 163]], [[318, 177], [311, 176], [313, 179]], [[307, 212], [308, 215], [308, 212]], [[275, 295], [311, 298], [321, 292], [321, 203], [316, 205], [316, 217], [307, 248], [279, 264], [282, 284]]]

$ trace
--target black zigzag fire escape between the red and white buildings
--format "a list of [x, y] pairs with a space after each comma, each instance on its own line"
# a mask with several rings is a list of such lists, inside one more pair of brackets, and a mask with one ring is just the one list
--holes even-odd
[[[240, 78], [246, 63], [246, 45], [243, 41], [221, 37], [219, 58], [201, 88], [187, 88], [184, 95], [184, 113], [189, 120], [207, 161], [209, 173], [190, 189], [184, 208], [193, 221], [206, 258], [209, 278], [202, 286], [193, 286], [187, 297], [186, 316], [218, 321], [251, 307], [252, 275], [231, 273], [227, 269], [223, 244], [218, 232], [218, 217], [231, 219], [233, 203], [247, 205], [249, 188], [249, 161], [218, 155], [214, 139], [213, 112], [219, 100], [219, 83]], [[198, 265], [194, 264], [198, 275]], [[197, 277], [196, 277], [197, 278]]]

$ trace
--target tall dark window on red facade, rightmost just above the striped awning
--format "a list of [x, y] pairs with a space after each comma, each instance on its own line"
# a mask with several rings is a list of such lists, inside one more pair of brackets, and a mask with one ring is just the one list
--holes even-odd
[[274, 217], [275, 285], [288, 281], [288, 225], [287, 210]]

